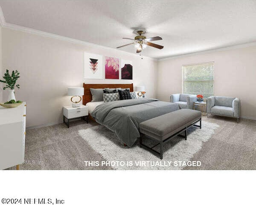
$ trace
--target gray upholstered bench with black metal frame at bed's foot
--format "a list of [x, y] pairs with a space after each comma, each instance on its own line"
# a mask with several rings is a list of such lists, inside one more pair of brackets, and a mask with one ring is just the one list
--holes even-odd
[[[200, 122], [200, 125], [195, 125]], [[180, 136], [187, 140], [187, 128], [194, 125], [201, 129], [201, 112], [190, 109], [181, 109], [170, 112], [159, 117], [152, 118], [140, 123], [140, 139], [138, 144], [140, 147], [151, 151], [163, 159], [163, 143], [170, 140], [172, 137]], [[184, 135], [180, 133], [184, 132]], [[148, 147], [143, 144], [143, 137], [149, 137], [158, 141], [160, 144], [160, 152], [155, 151], [153, 147]]]

